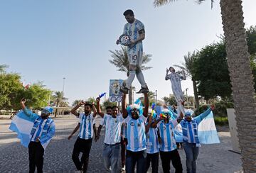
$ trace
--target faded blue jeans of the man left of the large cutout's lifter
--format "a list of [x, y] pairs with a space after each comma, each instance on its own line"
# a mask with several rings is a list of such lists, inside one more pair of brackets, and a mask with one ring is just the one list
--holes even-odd
[[119, 154], [120, 154], [120, 144], [115, 144], [115, 145], [104, 145], [103, 149], [103, 164], [105, 169], [107, 171], [110, 171], [111, 167], [111, 173], [117, 173], [118, 169], [118, 159], [119, 159]]

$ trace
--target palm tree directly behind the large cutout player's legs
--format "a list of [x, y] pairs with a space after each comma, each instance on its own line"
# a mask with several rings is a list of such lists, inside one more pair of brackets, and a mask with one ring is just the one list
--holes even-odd
[[[126, 72], [127, 77], [129, 76], [129, 61], [128, 61], [128, 55], [127, 55], [127, 47], [121, 46], [121, 50], [110, 50], [112, 53], [111, 57], [112, 60], [109, 60], [112, 65], [117, 67], [117, 71], [120, 72]], [[152, 55], [144, 54], [142, 56], [142, 70], [151, 69], [152, 67], [146, 67], [145, 64], [148, 63], [151, 60]], [[132, 104], [132, 91], [129, 89], [129, 104]]]

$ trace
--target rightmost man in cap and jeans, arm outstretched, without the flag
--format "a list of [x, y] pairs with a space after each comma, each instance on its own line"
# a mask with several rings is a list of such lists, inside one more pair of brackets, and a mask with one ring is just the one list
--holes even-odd
[[198, 124], [203, 118], [206, 118], [214, 106], [210, 106], [199, 116], [192, 118], [191, 113], [185, 113], [185, 119], [181, 121], [183, 134], [183, 147], [186, 153], [186, 171], [188, 173], [196, 172], [196, 160], [199, 154]]

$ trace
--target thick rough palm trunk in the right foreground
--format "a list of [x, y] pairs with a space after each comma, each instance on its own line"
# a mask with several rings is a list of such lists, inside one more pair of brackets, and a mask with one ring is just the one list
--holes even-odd
[[220, 0], [244, 172], [256, 172], [256, 102], [241, 0]]

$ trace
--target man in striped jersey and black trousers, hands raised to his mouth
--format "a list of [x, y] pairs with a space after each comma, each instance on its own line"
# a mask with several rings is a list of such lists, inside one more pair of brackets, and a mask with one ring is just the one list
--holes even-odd
[[178, 154], [176, 140], [174, 138], [174, 128], [181, 121], [183, 116], [171, 120], [171, 112], [164, 108], [160, 118], [153, 123], [159, 129], [161, 144], [160, 157], [164, 173], [170, 172], [170, 162], [173, 164], [176, 173], [182, 172], [181, 157]]

